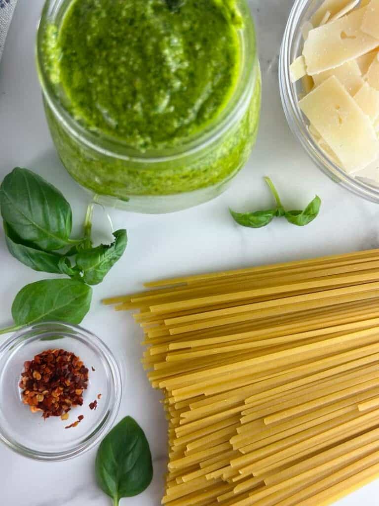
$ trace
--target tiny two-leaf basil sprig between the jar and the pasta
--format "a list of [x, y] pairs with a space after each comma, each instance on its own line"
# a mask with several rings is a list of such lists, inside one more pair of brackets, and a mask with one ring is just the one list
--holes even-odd
[[321, 206], [320, 197], [316, 195], [304, 210], [286, 211], [281, 203], [279, 194], [271, 179], [265, 177], [264, 180], [266, 181], [272, 195], [274, 196], [276, 207], [273, 209], [254, 211], [252, 213], [236, 213], [232, 209], [229, 209], [230, 214], [236, 223], [243, 227], [261, 228], [271, 223], [275, 217], [285, 217], [286, 220], [293, 225], [304, 227], [316, 218]]

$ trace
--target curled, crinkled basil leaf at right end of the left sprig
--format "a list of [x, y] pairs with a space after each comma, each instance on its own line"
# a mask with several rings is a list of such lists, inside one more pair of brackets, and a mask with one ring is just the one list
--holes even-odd
[[82, 281], [91, 285], [101, 283], [111, 267], [122, 257], [126, 245], [126, 230], [113, 233], [115, 241], [111, 245], [79, 251], [76, 255], [77, 269], [82, 273]]

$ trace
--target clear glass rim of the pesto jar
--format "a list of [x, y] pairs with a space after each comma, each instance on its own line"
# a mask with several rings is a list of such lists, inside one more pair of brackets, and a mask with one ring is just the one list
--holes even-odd
[[[41, 18], [37, 27], [36, 36], [36, 63], [37, 72], [42, 88], [43, 97], [52, 109], [54, 115], [64, 128], [80, 143], [102, 155], [115, 157], [123, 160], [141, 162], [164, 162], [177, 159], [180, 156], [188, 156], [206, 148], [217, 141], [230, 128], [230, 125], [238, 122], [245, 113], [250, 97], [254, 91], [255, 81], [258, 77], [258, 59], [256, 50], [255, 29], [249, 6], [246, 0], [236, 0], [238, 9], [244, 20], [244, 26], [238, 29], [241, 45], [240, 75], [235, 89], [223, 111], [207, 125], [207, 128], [194, 136], [187, 143], [173, 148], [155, 151], [140, 152], [132, 148], [120, 139], [111, 136], [99, 137], [81, 125], [62, 105], [56, 93], [54, 85], [43, 65], [42, 41], [48, 24], [62, 9], [65, 0], [46, 0]], [[64, 7], [65, 11], [70, 2]]]

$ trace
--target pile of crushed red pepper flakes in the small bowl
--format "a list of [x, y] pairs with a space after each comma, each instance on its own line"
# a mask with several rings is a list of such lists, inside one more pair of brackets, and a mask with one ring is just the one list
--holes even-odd
[[20, 381], [23, 403], [33, 413], [42, 411], [43, 418], [67, 419], [72, 407], [83, 404], [87, 385], [88, 369], [79, 357], [65, 350], [45, 350], [25, 362]]

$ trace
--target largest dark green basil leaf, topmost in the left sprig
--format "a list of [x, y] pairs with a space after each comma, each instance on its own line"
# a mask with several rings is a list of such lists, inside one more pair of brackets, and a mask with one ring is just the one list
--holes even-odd
[[53, 251], [70, 243], [70, 204], [53, 185], [26, 168], [16, 167], [0, 186], [4, 220], [23, 241]]

